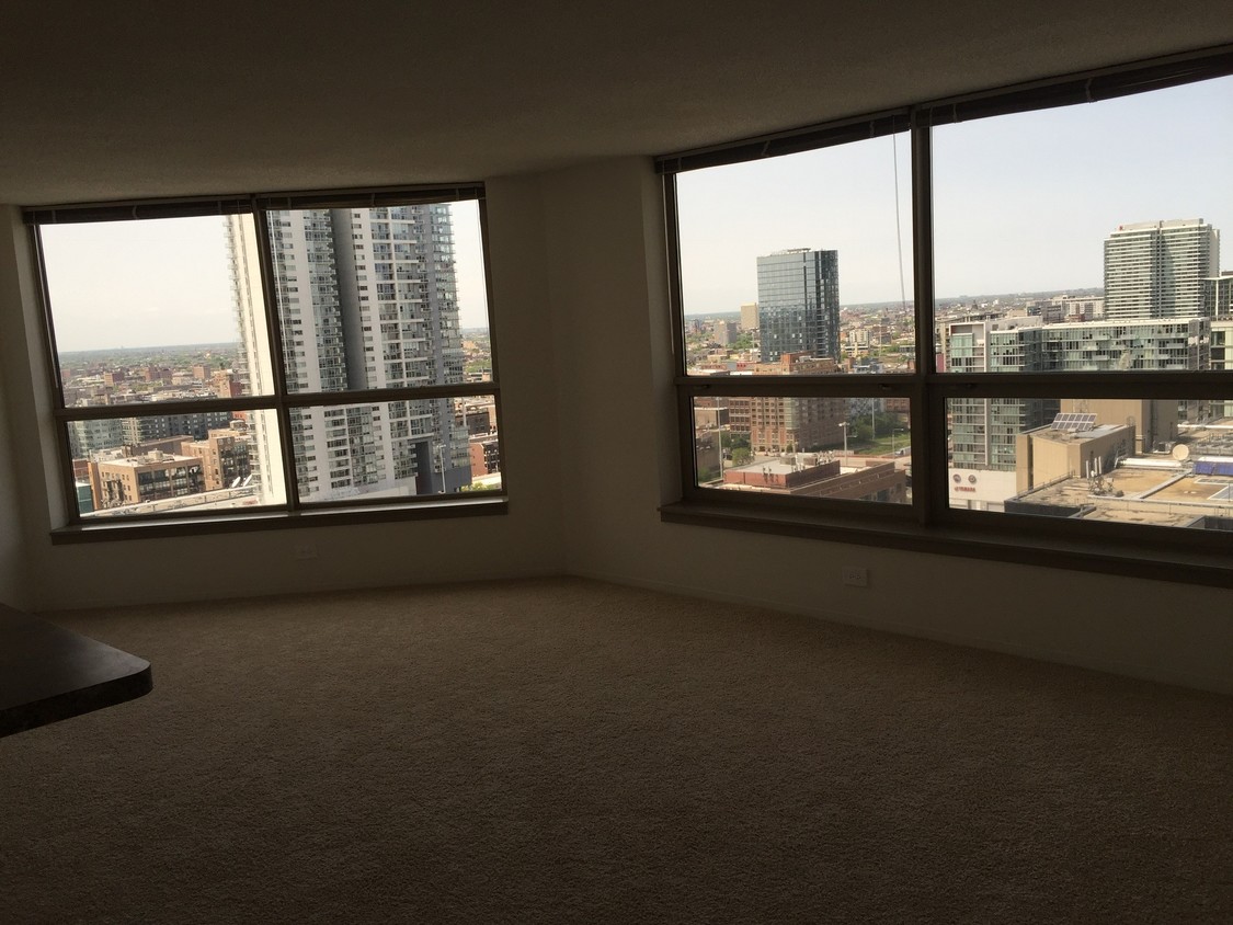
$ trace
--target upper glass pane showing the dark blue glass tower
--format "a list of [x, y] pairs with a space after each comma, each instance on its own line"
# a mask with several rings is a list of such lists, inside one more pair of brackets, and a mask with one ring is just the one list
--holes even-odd
[[687, 371], [907, 372], [906, 134], [677, 176]]

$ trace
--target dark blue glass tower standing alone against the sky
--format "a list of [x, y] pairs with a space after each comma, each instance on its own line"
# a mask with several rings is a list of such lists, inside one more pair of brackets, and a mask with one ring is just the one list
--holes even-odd
[[778, 250], [758, 258], [762, 363], [785, 353], [840, 359], [840, 254]]

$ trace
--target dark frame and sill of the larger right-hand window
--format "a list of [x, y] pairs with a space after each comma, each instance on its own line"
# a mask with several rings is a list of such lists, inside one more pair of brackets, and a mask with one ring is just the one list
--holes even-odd
[[[663, 504], [670, 523], [1030, 562], [1165, 581], [1233, 587], [1233, 544], [1207, 530], [1046, 518], [952, 508], [947, 486], [949, 398], [1233, 398], [1224, 371], [938, 372], [932, 234], [935, 126], [1101, 100], [1233, 75], [1233, 46], [919, 102], [868, 116], [789, 130], [656, 158], [662, 175], [679, 434], [679, 501]], [[684, 302], [676, 176], [693, 169], [815, 150], [891, 132], [909, 132], [912, 204], [912, 372], [742, 377], [690, 376], [684, 355]], [[912, 503], [751, 496], [698, 485], [693, 400], [698, 396], [907, 397]], [[1213, 550], [1213, 546], [1216, 548]]]

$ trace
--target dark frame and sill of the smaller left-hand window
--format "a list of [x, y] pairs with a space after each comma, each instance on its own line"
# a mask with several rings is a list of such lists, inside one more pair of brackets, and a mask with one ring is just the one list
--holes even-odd
[[[308, 208], [382, 208], [408, 205], [441, 205], [475, 202], [478, 210], [481, 260], [487, 298], [491, 379], [482, 382], [455, 385], [416, 385], [351, 391], [291, 391], [287, 387], [287, 355], [282, 319], [277, 303], [274, 254], [270, 242], [268, 213], [281, 210]], [[28, 206], [21, 210], [27, 226], [35, 260], [41, 301], [39, 321], [51, 393], [51, 418], [54, 424], [55, 466], [63, 495], [63, 525], [52, 529], [52, 541], [79, 543], [111, 539], [191, 535], [197, 533], [229, 533], [242, 530], [284, 529], [305, 525], [355, 524], [404, 519], [436, 519], [443, 517], [473, 517], [508, 512], [508, 479], [502, 469], [499, 488], [476, 488], [451, 495], [412, 495], [399, 498], [364, 497], [363, 495], [330, 501], [305, 501], [300, 497], [291, 412], [306, 407], [344, 407], [385, 402], [416, 402], [449, 398], [492, 396], [497, 421], [498, 454], [504, 461], [504, 428], [499, 385], [499, 360], [496, 324], [493, 321], [492, 273], [488, 259], [488, 217], [482, 183], [453, 185], [417, 185], [365, 187], [351, 190], [265, 192], [232, 196], [129, 200], [95, 204]], [[43, 224], [102, 223], [112, 221], [155, 220], [175, 217], [226, 217], [248, 215], [255, 229], [261, 281], [261, 310], [269, 355], [265, 361], [272, 372], [269, 395], [245, 395], [234, 398], [199, 398], [158, 402], [157, 408], [145, 403], [112, 406], [68, 406], [55, 344], [54, 310], [52, 306], [42, 236]], [[255, 307], [255, 306], [254, 306]], [[260, 322], [259, 322], [260, 323]], [[282, 469], [285, 500], [277, 503], [245, 508], [132, 513], [118, 517], [83, 517], [76, 507], [73, 456], [68, 426], [75, 421], [106, 421], [142, 417], [165, 417], [208, 412], [264, 411], [277, 421], [277, 444]]]

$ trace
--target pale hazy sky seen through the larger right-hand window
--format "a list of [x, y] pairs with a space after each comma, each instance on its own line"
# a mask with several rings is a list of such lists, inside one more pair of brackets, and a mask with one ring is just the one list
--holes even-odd
[[[1104, 240], [1128, 222], [1203, 218], [1233, 234], [1231, 152], [1233, 78], [938, 127], [936, 292], [1102, 286]], [[911, 298], [904, 134], [681, 174], [686, 311], [756, 301], [756, 258], [785, 248], [837, 249], [843, 305], [898, 300], [896, 153]]]

